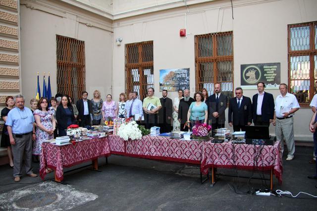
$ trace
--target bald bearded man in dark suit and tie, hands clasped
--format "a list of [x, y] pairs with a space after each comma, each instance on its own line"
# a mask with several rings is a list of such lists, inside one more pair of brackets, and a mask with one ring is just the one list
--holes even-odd
[[209, 110], [209, 119], [211, 119], [212, 130], [223, 128], [225, 117], [225, 109], [227, 108], [228, 98], [226, 95], [221, 94], [219, 83], [214, 84], [214, 94], [209, 96], [207, 106]]

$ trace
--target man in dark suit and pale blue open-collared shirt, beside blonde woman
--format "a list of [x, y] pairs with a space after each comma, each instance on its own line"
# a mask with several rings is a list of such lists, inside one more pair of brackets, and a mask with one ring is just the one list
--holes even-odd
[[83, 91], [81, 93], [82, 99], [76, 102], [76, 107], [78, 110], [78, 122], [80, 127], [84, 127], [86, 125], [90, 125], [90, 113], [91, 113], [91, 102], [87, 100], [88, 92]]

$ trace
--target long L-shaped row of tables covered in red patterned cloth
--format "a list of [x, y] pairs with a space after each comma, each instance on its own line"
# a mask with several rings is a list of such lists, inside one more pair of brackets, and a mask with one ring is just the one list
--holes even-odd
[[[117, 135], [91, 139], [73, 145], [56, 146], [43, 143], [40, 176], [44, 179], [47, 167], [55, 170], [55, 180], [63, 179], [63, 167], [93, 160], [98, 168], [98, 157], [122, 155], [173, 162], [199, 164], [202, 174], [211, 168], [214, 183], [216, 167], [268, 170], [282, 181], [282, 161], [279, 142], [273, 146], [245, 145], [211, 141], [183, 141], [162, 136], [143, 136], [140, 140], [124, 141]], [[256, 157], [256, 161], [255, 161]]]

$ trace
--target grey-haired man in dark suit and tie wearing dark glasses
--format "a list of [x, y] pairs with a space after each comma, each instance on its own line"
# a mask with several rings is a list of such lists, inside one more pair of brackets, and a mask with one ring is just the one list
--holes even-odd
[[235, 98], [229, 100], [228, 122], [230, 127], [233, 125], [233, 131], [246, 131], [245, 125], [252, 122], [252, 104], [251, 99], [243, 96], [241, 87], [235, 89]]

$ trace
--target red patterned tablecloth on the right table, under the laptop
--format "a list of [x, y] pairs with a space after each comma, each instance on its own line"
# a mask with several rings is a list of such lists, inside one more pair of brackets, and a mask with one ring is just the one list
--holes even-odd
[[247, 145], [205, 142], [201, 170], [210, 167], [240, 168], [250, 170], [273, 170], [282, 182], [282, 154], [280, 144]]

